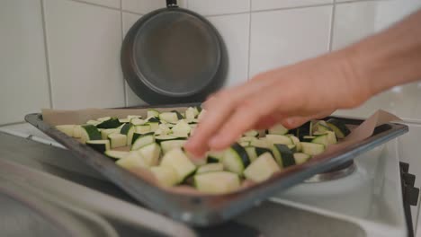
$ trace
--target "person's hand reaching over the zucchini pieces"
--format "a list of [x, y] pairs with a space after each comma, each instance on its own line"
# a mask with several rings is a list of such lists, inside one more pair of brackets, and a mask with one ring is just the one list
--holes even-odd
[[337, 109], [354, 108], [372, 95], [356, 72], [346, 52], [340, 51], [274, 69], [217, 92], [204, 102], [206, 115], [185, 149], [201, 157], [210, 149], [227, 148], [250, 129], [276, 123], [299, 127]]

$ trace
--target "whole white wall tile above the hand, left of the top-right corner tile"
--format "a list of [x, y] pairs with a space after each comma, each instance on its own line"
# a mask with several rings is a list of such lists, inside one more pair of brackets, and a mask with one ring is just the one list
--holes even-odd
[[332, 6], [252, 13], [250, 76], [328, 50]]

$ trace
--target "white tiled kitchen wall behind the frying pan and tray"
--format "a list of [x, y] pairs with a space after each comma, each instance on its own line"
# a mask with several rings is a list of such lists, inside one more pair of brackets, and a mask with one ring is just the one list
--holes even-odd
[[[228, 45], [226, 86], [275, 66], [342, 48], [381, 31], [421, 0], [184, 0]], [[40, 108], [144, 103], [124, 82], [124, 34], [165, 0], [0, 1], [0, 125]], [[421, 122], [421, 83], [400, 86], [339, 114], [366, 117], [383, 108]]]

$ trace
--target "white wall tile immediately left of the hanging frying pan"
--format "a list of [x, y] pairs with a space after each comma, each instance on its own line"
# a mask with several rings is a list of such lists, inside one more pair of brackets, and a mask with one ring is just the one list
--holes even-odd
[[67, 0], [46, 0], [53, 106], [124, 105], [121, 13]]

